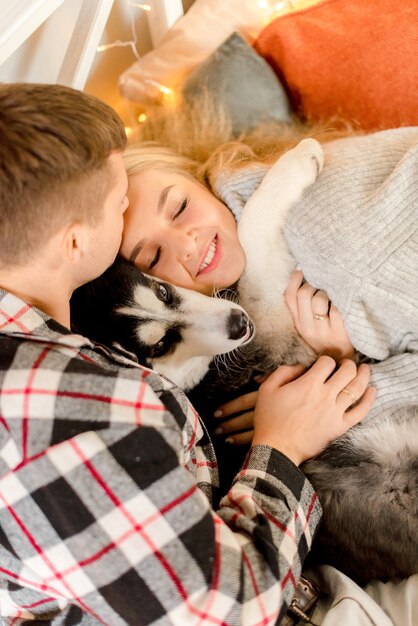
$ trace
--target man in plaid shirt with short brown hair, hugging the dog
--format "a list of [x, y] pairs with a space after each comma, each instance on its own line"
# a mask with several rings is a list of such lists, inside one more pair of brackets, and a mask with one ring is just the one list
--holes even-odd
[[367, 366], [277, 370], [220, 502], [184, 394], [70, 330], [73, 290], [121, 241], [121, 121], [69, 88], [2, 85], [0, 135], [4, 623], [275, 623], [320, 518], [297, 466], [367, 413]]

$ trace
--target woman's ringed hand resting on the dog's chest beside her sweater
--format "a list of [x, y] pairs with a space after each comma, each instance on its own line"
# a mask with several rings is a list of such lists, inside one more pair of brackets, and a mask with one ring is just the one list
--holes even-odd
[[292, 272], [285, 300], [297, 332], [316, 354], [327, 354], [336, 361], [354, 357], [340, 313], [325, 291], [303, 282], [302, 272]]

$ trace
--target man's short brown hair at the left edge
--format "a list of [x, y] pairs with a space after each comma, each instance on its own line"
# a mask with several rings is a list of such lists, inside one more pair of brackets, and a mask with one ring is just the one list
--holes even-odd
[[0, 85], [0, 265], [22, 264], [70, 220], [95, 221], [125, 129], [99, 99], [62, 85]]

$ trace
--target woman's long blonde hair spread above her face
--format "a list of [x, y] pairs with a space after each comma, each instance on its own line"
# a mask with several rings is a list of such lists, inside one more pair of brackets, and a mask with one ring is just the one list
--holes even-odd
[[338, 120], [308, 125], [295, 118], [234, 137], [226, 112], [203, 92], [192, 103], [178, 98], [173, 105], [155, 108], [130, 140], [124, 161], [128, 175], [171, 170], [212, 189], [220, 172], [252, 162], [272, 163], [304, 137], [325, 143], [353, 132]]

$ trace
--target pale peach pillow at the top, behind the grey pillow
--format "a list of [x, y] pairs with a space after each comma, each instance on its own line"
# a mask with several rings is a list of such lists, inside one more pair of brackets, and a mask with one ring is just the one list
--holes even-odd
[[119, 79], [122, 95], [142, 104], [161, 98], [160, 85], [177, 88], [234, 31], [253, 43], [277, 14], [318, 0], [195, 0], [158, 46]]

